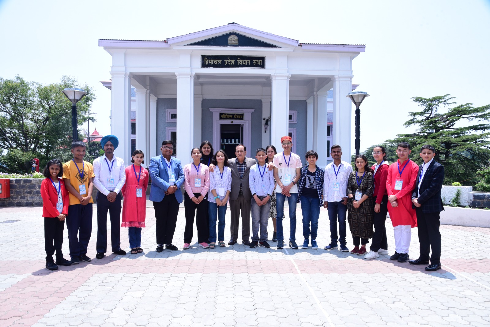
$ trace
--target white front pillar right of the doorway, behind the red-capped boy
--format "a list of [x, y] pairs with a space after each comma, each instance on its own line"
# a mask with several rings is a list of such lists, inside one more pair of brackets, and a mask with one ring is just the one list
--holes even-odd
[[[289, 74], [272, 74], [270, 143], [282, 151], [281, 137], [289, 133]], [[294, 151], [294, 149], [293, 149]]]

